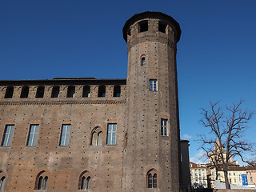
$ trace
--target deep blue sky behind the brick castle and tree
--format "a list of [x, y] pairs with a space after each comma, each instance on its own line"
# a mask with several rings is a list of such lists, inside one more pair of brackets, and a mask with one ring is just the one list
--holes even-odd
[[[134, 14], [161, 11], [176, 19], [182, 138], [200, 162], [200, 108], [243, 98], [256, 106], [256, 1], [0, 0], [0, 79], [126, 78], [122, 26]], [[246, 139], [256, 142], [256, 117]]]

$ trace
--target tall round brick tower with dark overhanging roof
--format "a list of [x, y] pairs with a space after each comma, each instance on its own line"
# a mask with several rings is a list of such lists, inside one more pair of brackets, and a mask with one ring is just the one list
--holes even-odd
[[178, 22], [160, 12], [135, 14], [123, 27], [128, 50], [123, 191], [179, 191], [180, 35]]

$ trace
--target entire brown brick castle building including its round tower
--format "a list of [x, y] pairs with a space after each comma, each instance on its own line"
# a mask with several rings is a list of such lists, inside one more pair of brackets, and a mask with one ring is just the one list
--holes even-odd
[[166, 14], [135, 14], [127, 79], [0, 81], [0, 190], [181, 190], [180, 34]]

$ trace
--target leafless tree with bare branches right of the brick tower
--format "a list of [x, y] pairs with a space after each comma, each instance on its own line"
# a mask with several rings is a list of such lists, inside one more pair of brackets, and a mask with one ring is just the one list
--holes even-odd
[[243, 134], [254, 111], [243, 110], [242, 100], [231, 106], [220, 107], [219, 102], [210, 102], [210, 109], [202, 109], [202, 125], [210, 129], [209, 136], [199, 135], [204, 150], [217, 171], [223, 170], [226, 189], [230, 189], [228, 170], [231, 158], [238, 156], [242, 162], [252, 165], [244, 154], [252, 152], [253, 143], [247, 142]]

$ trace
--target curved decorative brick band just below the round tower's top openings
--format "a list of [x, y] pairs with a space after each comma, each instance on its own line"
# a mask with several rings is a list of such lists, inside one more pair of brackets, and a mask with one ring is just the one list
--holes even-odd
[[171, 48], [175, 48], [174, 42], [171, 42], [168, 38], [155, 36], [155, 35], [145, 35], [142, 38], [135, 38], [136, 40], [128, 42], [127, 50], [130, 50], [131, 47], [138, 45], [142, 42], [162, 42]]

